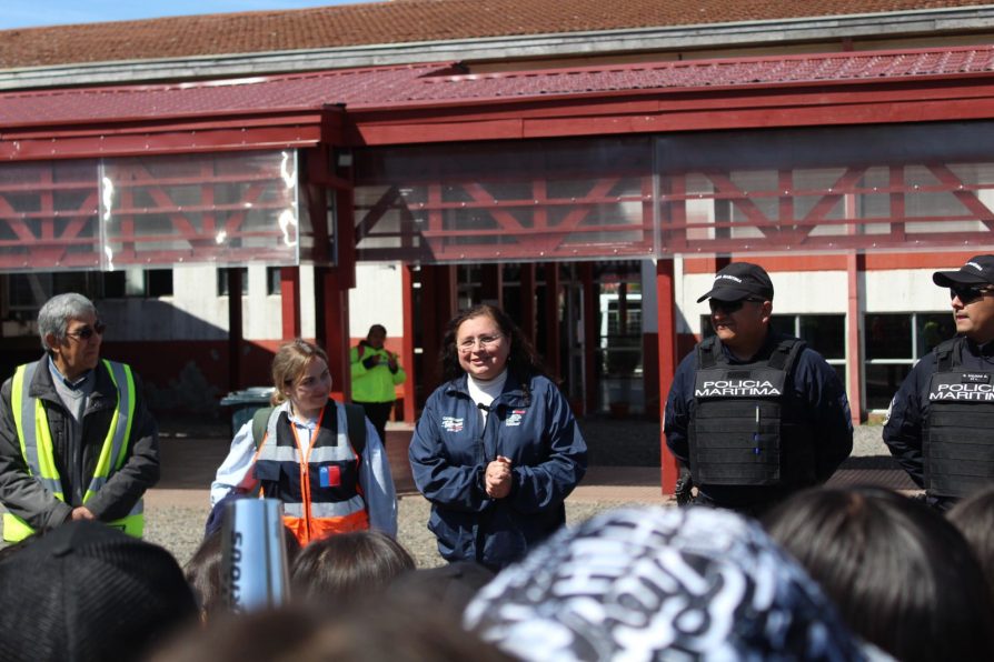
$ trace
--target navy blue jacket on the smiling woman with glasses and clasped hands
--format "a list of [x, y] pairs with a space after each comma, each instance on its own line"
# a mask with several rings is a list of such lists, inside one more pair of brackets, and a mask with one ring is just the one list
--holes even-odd
[[[544, 377], [530, 393], [508, 375], [486, 425], [467, 377], [443, 384], [421, 412], [409, 458], [418, 490], [431, 502], [428, 529], [449, 561], [499, 569], [521, 559], [566, 521], [563, 502], [587, 470], [587, 444], [566, 399]], [[487, 496], [484, 472], [510, 458], [513, 485]]]

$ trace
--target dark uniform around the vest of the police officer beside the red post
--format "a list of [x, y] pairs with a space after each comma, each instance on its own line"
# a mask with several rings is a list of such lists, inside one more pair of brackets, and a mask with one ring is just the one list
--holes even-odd
[[[740, 361], [724, 344], [720, 349], [730, 365], [743, 365], [768, 360], [777, 345], [791, 338], [771, 329], [766, 341], [755, 357]], [[719, 343], [720, 344], [720, 343]], [[696, 408], [694, 384], [696, 379], [696, 351], [680, 361], [669, 389], [664, 415], [666, 445], [684, 464], [689, 465], [689, 425]], [[734, 508], [758, 514], [765, 508], [781, 501], [798, 489], [828, 480], [838, 465], [853, 451], [853, 422], [849, 402], [838, 375], [816, 351], [805, 348], [797, 357], [787, 391], [781, 401], [809, 433], [814, 451], [814, 475], [808, 484], [753, 485], [697, 485], [697, 501], [724, 508]]]

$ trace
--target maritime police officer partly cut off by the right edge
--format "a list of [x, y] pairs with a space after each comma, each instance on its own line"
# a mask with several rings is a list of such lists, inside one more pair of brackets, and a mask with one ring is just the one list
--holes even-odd
[[932, 281], [950, 289], [956, 337], [901, 384], [884, 442], [928, 503], [947, 510], [994, 484], [994, 255], [936, 271]]

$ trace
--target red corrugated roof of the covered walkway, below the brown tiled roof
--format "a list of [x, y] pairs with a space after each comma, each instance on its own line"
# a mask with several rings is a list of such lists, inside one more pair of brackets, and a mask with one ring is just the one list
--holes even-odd
[[535, 100], [638, 91], [694, 91], [950, 78], [994, 72], [994, 47], [667, 61], [598, 68], [461, 74], [451, 63], [336, 70], [168, 86], [0, 94], [0, 124], [16, 127], [179, 117]]

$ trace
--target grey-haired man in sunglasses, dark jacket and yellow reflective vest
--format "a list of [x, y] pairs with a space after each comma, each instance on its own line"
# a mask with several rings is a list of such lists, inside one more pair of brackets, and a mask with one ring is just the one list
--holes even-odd
[[38, 313], [44, 357], [0, 389], [8, 542], [72, 520], [141, 538], [141, 498], [159, 480], [158, 430], [131, 368], [100, 359], [105, 329], [82, 294], [52, 297]]

